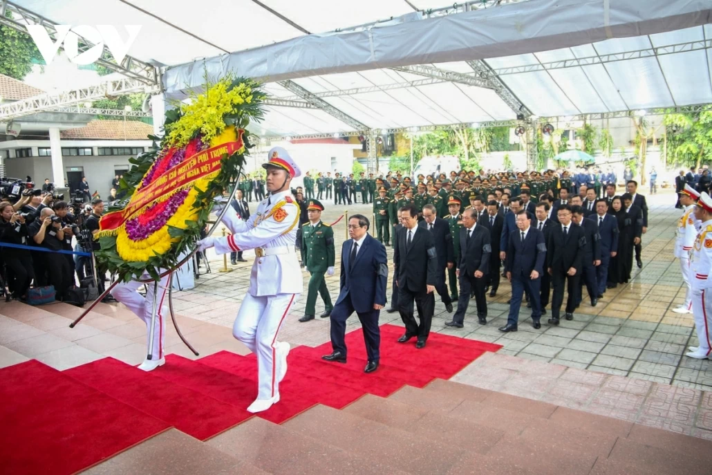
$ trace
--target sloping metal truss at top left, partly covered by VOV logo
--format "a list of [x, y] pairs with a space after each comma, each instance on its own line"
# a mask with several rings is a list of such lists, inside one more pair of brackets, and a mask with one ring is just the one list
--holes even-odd
[[[27, 25], [41, 25], [47, 31], [47, 34], [56, 42], [56, 28], [55, 22], [44, 18], [38, 14], [33, 13], [27, 9], [23, 9], [21, 6], [13, 4], [9, 1], [2, 2], [2, 9], [11, 12], [13, 18], [9, 19], [4, 14], [0, 16], [0, 25], [9, 26], [14, 28], [21, 33], [27, 33]], [[4, 13], [4, 12], [3, 12]], [[88, 41], [82, 36], [79, 37], [78, 41], [78, 52], [83, 53], [94, 46], [94, 43]], [[144, 63], [143, 61], [132, 58], [131, 56], [126, 56], [121, 64], [117, 64], [113, 57], [111, 56], [108, 48], [104, 47], [101, 58], [96, 61], [97, 64], [104, 66], [105, 68], [126, 75], [129, 78], [139, 80], [146, 85], [153, 85], [158, 87], [160, 85], [159, 73], [157, 68], [149, 63]]]

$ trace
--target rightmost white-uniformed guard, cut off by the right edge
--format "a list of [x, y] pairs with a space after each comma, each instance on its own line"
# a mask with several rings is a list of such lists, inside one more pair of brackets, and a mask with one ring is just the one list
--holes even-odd
[[705, 360], [712, 355], [712, 199], [705, 192], [697, 201], [695, 216], [701, 221], [701, 227], [690, 253], [690, 280], [692, 315], [699, 345], [691, 347], [685, 355]]

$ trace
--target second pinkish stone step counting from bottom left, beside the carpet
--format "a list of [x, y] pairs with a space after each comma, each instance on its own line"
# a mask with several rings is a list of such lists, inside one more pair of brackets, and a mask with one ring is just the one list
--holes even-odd
[[273, 474], [399, 474], [360, 456], [253, 417], [206, 442], [236, 459]]

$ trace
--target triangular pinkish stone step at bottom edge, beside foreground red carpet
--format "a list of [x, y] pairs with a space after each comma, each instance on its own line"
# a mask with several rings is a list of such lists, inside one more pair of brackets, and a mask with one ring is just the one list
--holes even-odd
[[210, 447], [177, 429], [168, 429], [81, 473], [262, 475], [268, 472]]

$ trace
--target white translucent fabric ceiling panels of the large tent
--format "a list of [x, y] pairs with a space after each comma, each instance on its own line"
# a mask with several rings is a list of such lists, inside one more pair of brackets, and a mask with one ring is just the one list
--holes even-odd
[[[202, 4], [184, 0], [16, 0], [15, 3], [58, 24], [140, 24], [140, 35], [129, 54], [165, 65], [286, 41], [303, 36], [303, 31], [320, 33], [409, 14], [414, 11], [413, 6], [432, 9], [452, 4], [448, 0], [261, 0], [275, 14], [252, 0]], [[711, 41], [712, 26], [706, 24], [553, 51], [488, 58], [486, 63], [500, 71], [509, 90], [539, 116], [673, 107], [712, 103]], [[691, 48], [694, 51], [624, 61], [546, 71], [502, 71], [692, 42], [702, 43]], [[428, 66], [473, 73], [464, 62]], [[409, 82], [423, 79], [421, 75], [376, 69], [299, 78], [294, 82], [311, 93], [330, 93], [323, 100], [371, 128], [515, 118], [513, 110], [491, 89], [446, 82], [407, 87]], [[402, 87], [394, 88], [396, 84]], [[370, 90], [339, 92], [355, 88]], [[300, 100], [277, 83], [267, 83], [266, 89], [275, 98]], [[261, 134], [268, 136], [354, 130], [323, 110], [276, 106], [268, 108], [261, 126]]]

